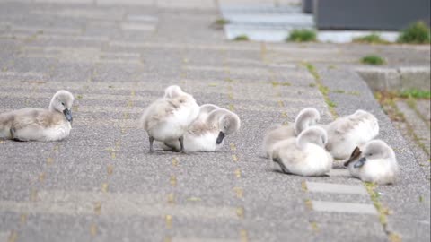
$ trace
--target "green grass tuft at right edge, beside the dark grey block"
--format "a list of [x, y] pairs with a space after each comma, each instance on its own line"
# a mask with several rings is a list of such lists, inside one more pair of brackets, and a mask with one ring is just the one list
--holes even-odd
[[430, 30], [425, 22], [412, 23], [407, 29], [402, 30], [399, 43], [427, 44], [430, 42]]

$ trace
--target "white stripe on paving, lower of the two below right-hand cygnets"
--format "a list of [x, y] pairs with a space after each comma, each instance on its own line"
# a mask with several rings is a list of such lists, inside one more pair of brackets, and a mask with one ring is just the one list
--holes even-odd
[[377, 214], [374, 205], [365, 203], [339, 203], [312, 201], [312, 208], [318, 212], [346, 212], [359, 214]]

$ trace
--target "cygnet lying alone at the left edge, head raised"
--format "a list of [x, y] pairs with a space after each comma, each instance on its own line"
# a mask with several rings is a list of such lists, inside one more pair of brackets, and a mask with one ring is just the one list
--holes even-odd
[[69, 91], [57, 91], [49, 109], [22, 108], [0, 114], [0, 139], [17, 141], [59, 141], [72, 129], [70, 109], [74, 96]]

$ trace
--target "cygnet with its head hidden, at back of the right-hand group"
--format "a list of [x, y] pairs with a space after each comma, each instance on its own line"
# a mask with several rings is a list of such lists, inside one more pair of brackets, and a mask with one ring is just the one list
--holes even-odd
[[379, 134], [377, 118], [364, 110], [321, 126], [328, 132], [326, 149], [338, 160], [349, 158], [356, 146], [364, 145]]

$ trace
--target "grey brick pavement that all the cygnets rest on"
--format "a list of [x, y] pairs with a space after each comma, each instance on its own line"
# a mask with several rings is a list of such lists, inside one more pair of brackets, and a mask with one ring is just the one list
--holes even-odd
[[[0, 241], [429, 241], [429, 170], [355, 69], [369, 53], [429, 65], [430, 48], [227, 42], [217, 18], [210, 0], [0, 1], [0, 112], [76, 98], [66, 141], [0, 143]], [[240, 115], [223, 151], [147, 153], [136, 120], [174, 83]], [[330, 177], [269, 165], [265, 128], [310, 106], [322, 122], [372, 111], [398, 182], [367, 191], [339, 164]]]

